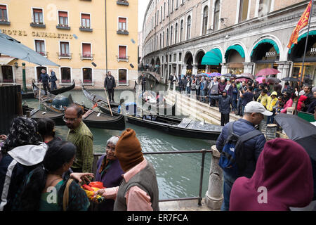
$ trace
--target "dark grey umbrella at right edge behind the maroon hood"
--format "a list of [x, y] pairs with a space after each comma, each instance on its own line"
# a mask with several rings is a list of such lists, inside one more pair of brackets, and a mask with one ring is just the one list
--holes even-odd
[[316, 126], [297, 115], [280, 113], [275, 120], [289, 139], [305, 148], [312, 160], [316, 160]]

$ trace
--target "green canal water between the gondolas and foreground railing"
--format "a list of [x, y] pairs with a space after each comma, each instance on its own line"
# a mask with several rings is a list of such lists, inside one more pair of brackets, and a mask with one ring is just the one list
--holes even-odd
[[[164, 90], [166, 86], [155, 86], [154, 90]], [[93, 90], [93, 93], [100, 96], [105, 96], [104, 91]], [[88, 108], [93, 104], [86, 99], [82, 91], [67, 91], [63, 96], [72, 95], [74, 101], [84, 103]], [[119, 102], [119, 99], [124, 98], [133, 99], [131, 91], [114, 91], [114, 101]], [[24, 101], [24, 100], [23, 100]], [[38, 101], [35, 99], [25, 100], [29, 107], [37, 108]], [[131, 128], [136, 131], [136, 136], [139, 139], [143, 152], [166, 152], [180, 150], [202, 150], [211, 149], [215, 141], [206, 141], [199, 139], [187, 139], [179, 136], [172, 136], [164, 134], [161, 131], [154, 129], [147, 129], [126, 123], [126, 128]], [[56, 127], [56, 133], [60, 138], [66, 139], [68, 128], [66, 126]], [[122, 131], [94, 129], [93, 144], [95, 153], [105, 153], [105, 143], [111, 136], [120, 135]], [[159, 199], [170, 198], [188, 198], [197, 197], [199, 195], [199, 180], [201, 171], [202, 154], [164, 154], [164, 155], [145, 155], [154, 166], [157, 173], [157, 181], [159, 186]], [[204, 164], [202, 197], [205, 196], [209, 185], [209, 169], [211, 165], [211, 154], [207, 153]]]

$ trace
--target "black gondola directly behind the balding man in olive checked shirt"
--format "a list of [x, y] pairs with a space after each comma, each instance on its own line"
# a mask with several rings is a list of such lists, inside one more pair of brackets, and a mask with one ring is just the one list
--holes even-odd
[[[39, 88], [33, 83], [33, 91], [35, 98], [39, 99]], [[79, 103], [73, 102], [71, 96], [67, 98], [68, 102], [65, 105], [60, 105], [60, 107], [56, 107], [53, 105], [55, 95], [48, 94], [44, 95], [44, 91], [41, 90], [41, 104], [44, 105], [46, 110], [51, 113], [65, 114], [65, 108], [68, 105], [74, 103], [78, 105], [84, 111], [84, 115], [82, 115], [82, 121], [88, 126], [93, 128], [100, 129], [112, 129], [112, 130], [124, 130], [126, 126], [126, 122], [123, 115], [113, 116], [110, 113], [98, 113], [89, 108], [86, 108], [85, 105], [81, 105]], [[65, 122], [64, 122], [65, 124]]]

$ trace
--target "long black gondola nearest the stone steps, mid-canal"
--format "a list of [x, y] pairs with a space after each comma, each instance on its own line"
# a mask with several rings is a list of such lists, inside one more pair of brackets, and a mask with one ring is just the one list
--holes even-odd
[[[103, 101], [100, 101], [100, 98], [98, 98], [97, 95], [91, 93], [91, 91], [88, 91], [84, 88], [82, 90], [84, 91], [84, 95], [92, 103], [97, 104], [100, 110], [102, 110], [103, 112], [110, 113], [110, 108], [108, 108]], [[223, 127], [218, 125], [208, 124], [199, 121], [192, 121], [188, 118], [180, 119], [177, 117], [164, 115], [150, 115], [149, 112], [145, 112], [145, 115], [138, 115], [137, 110], [139, 110], [139, 108], [133, 109], [131, 107], [132, 105], [133, 104], [126, 104], [126, 113], [124, 113], [124, 115], [126, 117], [127, 122], [141, 127], [147, 127], [163, 131], [167, 134], [183, 136], [191, 139], [204, 139], [216, 141], [218, 139], [218, 136], [220, 135], [220, 132], [223, 129]], [[111, 110], [113, 115], [120, 115], [120, 107], [115, 107], [115, 105], [112, 106], [113, 107], [111, 108]], [[127, 109], [127, 107], [129, 107], [129, 109]]]

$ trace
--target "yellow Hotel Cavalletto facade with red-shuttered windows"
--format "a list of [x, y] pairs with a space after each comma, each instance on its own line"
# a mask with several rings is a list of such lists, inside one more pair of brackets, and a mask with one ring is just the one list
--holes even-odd
[[[106, 3], [106, 5], [105, 5]], [[132, 88], [138, 77], [138, 0], [0, 0], [0, 30], [60, 65], [39, 66], [1, 56], [0, 84], [38, 82], [52, 69], [58, 84], [103, 88], [110, 71], [117, 86]]]

